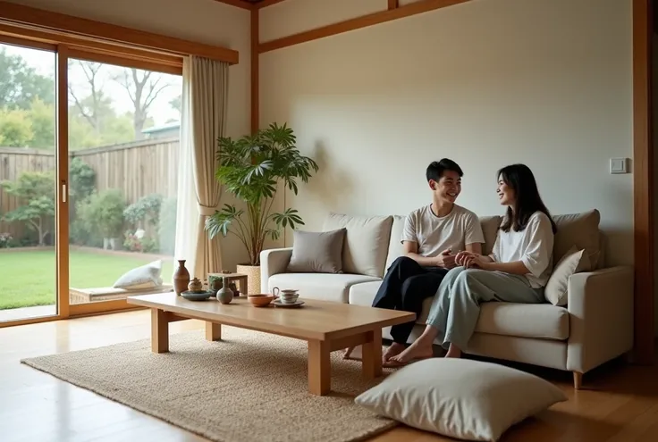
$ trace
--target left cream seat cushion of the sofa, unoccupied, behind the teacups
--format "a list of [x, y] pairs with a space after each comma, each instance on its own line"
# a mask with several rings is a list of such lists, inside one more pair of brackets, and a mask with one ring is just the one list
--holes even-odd
[[[347, 303], [348, 293], [353, 284], [367, 281], [378, 281], [375, 277], [353, 275], [346, 273], [279, 273], [267, 280], [267, 286], [272, 289], [296, 288], [299, 290], [299, 299], [317, 299], [320, 301], [333, 301]], [[375, 290], [376, 291], [376, 290]]]

